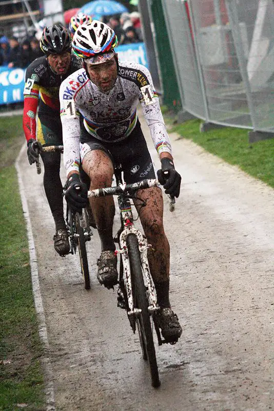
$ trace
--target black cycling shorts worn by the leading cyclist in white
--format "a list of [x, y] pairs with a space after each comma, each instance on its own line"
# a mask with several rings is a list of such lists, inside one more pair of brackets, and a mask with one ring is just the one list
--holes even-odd
[[122, 141], [108, 143], [91, 136], [84, 125], [81, 127], [81, 159], [92, 150], [102, 150], [111, 159], [113, 166], [121, 164], [126, 183], [155, 178], [153, 163], [147, 148], [140, 122], [132, 133]]

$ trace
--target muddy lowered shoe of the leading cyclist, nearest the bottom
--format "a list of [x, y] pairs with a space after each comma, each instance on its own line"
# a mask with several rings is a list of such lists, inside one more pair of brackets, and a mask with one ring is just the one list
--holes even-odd
[[182, 327], [179, 323], [178, 316], [171, 308], [162, 308], [155, 314], [155, 320], [166, 342], [175, 344], [182, 334]]

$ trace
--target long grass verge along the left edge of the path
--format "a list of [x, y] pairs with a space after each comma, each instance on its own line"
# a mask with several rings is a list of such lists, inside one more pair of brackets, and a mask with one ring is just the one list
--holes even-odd
[[33, 303], [29, 250], [14, 160], [22, 116], [0, 122], [0, 410], [45, 409], [43, 347]]

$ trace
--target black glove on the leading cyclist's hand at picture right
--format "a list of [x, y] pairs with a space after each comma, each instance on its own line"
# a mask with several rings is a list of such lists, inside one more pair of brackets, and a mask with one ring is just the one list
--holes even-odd
[[165, 193], [179, 197], [181, 187], [181, 176], [174, 169], [173, 161], [164, 157], [161, 159], [162, 168], [158, 170], [157, 176], [160, 184], [164, 186]]

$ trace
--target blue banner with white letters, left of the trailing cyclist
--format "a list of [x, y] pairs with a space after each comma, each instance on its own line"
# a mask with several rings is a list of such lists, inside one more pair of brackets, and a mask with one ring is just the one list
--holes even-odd
[[0, 67], [0, 104], [24, 101], [25, 69]]

